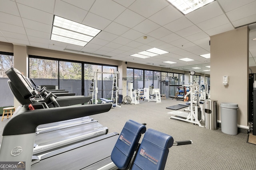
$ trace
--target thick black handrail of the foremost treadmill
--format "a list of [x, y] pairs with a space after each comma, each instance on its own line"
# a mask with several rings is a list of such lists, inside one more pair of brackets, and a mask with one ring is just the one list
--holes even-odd
[[4, 127], [3, 136], [36, 133], [38, 125], [104, 113], [109, 111], [111, 107], [112, 104], [100, 104], [23, 111], [9, 120]]

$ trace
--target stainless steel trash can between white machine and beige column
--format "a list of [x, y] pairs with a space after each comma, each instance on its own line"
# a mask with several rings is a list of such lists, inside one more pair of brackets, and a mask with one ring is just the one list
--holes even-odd
[[217, 126], [217, 100], [204, 100], [204, 119], [206, 129], [216, 130]]

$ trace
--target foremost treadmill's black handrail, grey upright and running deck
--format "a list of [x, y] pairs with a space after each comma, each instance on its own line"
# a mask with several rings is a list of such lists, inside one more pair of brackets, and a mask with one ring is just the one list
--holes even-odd
[[[81, 105], [26, 111], [22, 111], [21, 109], [18, 110], [18, 113], [16, 113], [4, 127], [2, 145], [0, 148], [0, 160], [26, 162], [26, 170], [29, 170], [32, 162], [31, 158], [34, 148], [36, 127], [38, 125], [102, 113], [104, 111], [109, 111], [112, 104], [101, 104], [100, 106], [101, 107], [98, 107], [98, 105]], [[70, 111], [73, 111], [73, 113], [69, 114]], [[66, 154], [68, 155], [68, 160], [65, 160], [66, 164], [73, 164], [74, 166], [77, 166], [77, 160], [80, 160], [81, 164], [86, 164], [86, 166], [88, 164], [91, 165], [94, 164], [98, 158], [100, 160], [108, 158], [111, 155], [111, 151], [114, 148], [117, 139], [118, 133], [109, 133], [75, 143], [68, 147], [50, 150], [47, 153], [43, 153], [43, 155], [38, 155], [38, 157], [40, 157], [40, 161], [33, 164], [31, 167], [34, 169], [49, 169], [42, 167], [42, 164], [44, 164], [44, 166], [48, 166], [48, 161], [51, 162], [51, 160], [53, 160], [51, 163], [56, 164], [55, 156], [59, 157], [60, 155], [64, 156]], [[68, 152], [70, 154], [68, 154]], [[90, 157], [91, 160], [84, 160], [84, 156]], [[72, 158], [72, 160], [70, 158]], [[60, 160], [64, 160], [64, 158]], [[90, 162], [89, 160], [93, 162]], [[52, 167], [50, 169], [61, 168]], [[70, 169], [74, 169], [74, 167]]]

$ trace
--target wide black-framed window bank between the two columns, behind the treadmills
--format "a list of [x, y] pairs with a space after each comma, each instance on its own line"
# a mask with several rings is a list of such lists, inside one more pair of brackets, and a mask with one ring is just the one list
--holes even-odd
[[[76, 96], [90, 95], [90, 88], [93, 88], [94, 85], [92, 83], [94, 72], [97, 71], [101, 72], [97, 77], [99, 90], [97, 98], [108, 97], [109, 92], [107, 90], [112, 89], [113, 82], [111, 72], [116, 72], [117, 66], [29, 56], [29, 77], [33, 78], [38, 85], [55, 85], [56, 88], [75, 93]], [[102, 72], [109, 73], [103, 74]], [[106, 92], [103, 92], [105, 90]]]

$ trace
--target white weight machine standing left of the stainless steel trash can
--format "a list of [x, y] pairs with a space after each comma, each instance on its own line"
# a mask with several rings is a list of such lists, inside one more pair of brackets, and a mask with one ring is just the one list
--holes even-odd
[[[190, 123], [194, 123], [199, 125], [200, 127], [204, 127], [201, 125], [200, 120], [202, 117], [201, 111], [200, 111], [200, 103], [199, 103], [199, 96], [200, 94], [202, 94], [202, 92], [199, 92], [199, 88], [198, 88], [198, 84], [196, 82], [194, 82], [193, 84], [187, 84], [187, 85], [183, 85], [183, 86], [188, 86], [190, 87], [190, 91], [186, 94], [191, 96], [190, 99], [190, 113], [183, 117], [180, 116], [179, 113], [176, 114], [175, 116], [171, 116], [169, 119], [178, 119], [178, 120], [182, 120], [182, 121], [186, 121], [186, 122], [190, 122]], [[184, 96], [184, 98], [186, 98], [187, 96]], [[194, 110], [193, 110], [194, 108]], [[186, 112], [185, 112], [186, 114]]]

